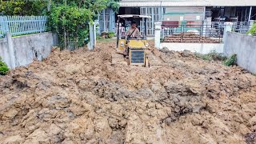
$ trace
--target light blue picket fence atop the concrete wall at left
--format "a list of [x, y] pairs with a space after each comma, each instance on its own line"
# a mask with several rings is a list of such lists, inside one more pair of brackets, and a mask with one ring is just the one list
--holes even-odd
[[1, 16], [0, 38], [7, 32], [11, 35], [25, 35], [46, 31], [46, 16]]

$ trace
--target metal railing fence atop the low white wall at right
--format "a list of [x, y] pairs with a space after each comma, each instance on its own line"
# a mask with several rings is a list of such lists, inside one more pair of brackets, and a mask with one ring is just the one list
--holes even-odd
[[[162, 24], [163, 42], [223, 42], [224, 22], [204, 24]], [[250, 29], [249, 22], [233, 22], [232, 31], [245, 34]]]

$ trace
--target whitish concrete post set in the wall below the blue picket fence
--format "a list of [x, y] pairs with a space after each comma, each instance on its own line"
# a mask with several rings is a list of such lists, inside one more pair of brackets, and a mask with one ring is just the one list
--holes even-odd
[[9, 32], [6, 33], [6, 38], [8, 42], [8, 52], [9, 52], [9, 57], [10, 57], [10, 69], [15, 68], [15, 54], [14, 54], [14, 43], [11, 38], [11, 34]]

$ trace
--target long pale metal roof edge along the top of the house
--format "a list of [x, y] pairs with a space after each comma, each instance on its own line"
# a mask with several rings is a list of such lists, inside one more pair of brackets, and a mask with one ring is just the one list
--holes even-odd
[[256, 0], [121, 0], [120, 6], [256, 6]]

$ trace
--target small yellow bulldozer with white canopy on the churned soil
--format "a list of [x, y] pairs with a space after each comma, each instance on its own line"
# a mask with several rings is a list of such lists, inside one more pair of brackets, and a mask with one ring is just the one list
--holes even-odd
[[[118, 15], [118, 34], [117, 34], [117, 48], [116, 53], [112, 56], [112, 63], [124, 63], [133, 66], [150, 66], [150, 62], [146, 56], [146, 50], [149, 49], [149, 43], [146, 38], [146, 22], [147, 18], [151, 18], [146, 15], [134, 15], [125, 14]], [[120, 24], [124, 21], [138, 21], [140, 22], [140, 34], [139, 37], [130, 38], [129, 35], [120, 34]], [[144, 32], [142, 32], [144, 30]]]

